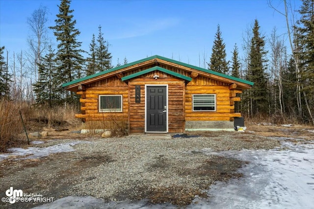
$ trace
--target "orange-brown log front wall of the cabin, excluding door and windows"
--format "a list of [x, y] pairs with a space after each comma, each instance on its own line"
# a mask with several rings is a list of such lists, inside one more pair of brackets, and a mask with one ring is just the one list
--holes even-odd
[[[145, 84], [168, 85], [168, 132], [182, 133], [185, 131], [186, 121], [191, 127], [195, 122], [191, 121], [233, 121], [240, 113], [234, 113], [235, 101], [239, 101], [237, 93], [242, 91], [236, 89], [236, 85], [224, 83], [203, 75], [197, 70], [186, 70], [178, 67], [159, 63], [158, 66], [192, 78], [186, 81], [173, 75], [155, 70], [150, 73], [122, 81], [121, 77], [131, 75], [135, 72], [146, 70], [156, 66], [155, 64], [125, 71], [123, 74], [111, 75], [101, 81], [84, 85], [84, 89], [77, 93], [81, 95], [81, 114], [76, 117], [83, 121], [110, 122], [110, 117], [127, 124], [129, 133], [145, 132]], [[153, 76], [157, 74], [156, 80]], [[139, 85], [141, 90], [140, 103], [135, 103], [135, 86]], [[99, 113], [99, 95], [120, 94], [123, 95], [122, 113]], [[216, 94], [216, 111], [193, 112], [192, 94]], [[211, 125], [211, 123], [209, 124]], [[209, 126], [208, 125], [208, 126]]]

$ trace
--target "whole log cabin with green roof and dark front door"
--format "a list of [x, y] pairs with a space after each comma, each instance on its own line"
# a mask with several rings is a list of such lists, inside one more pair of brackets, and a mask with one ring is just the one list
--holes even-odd
[[84, 123], [119, 121], [144, 134], [234, 130], [238, 94], [253, 85], [155, 55], [62, 86], [80, 95]]

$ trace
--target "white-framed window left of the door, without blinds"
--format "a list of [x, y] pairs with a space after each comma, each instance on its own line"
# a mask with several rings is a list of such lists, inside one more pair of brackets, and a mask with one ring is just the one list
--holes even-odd
[[99, 95], [99, 112], [122, 112], [122, 95]]

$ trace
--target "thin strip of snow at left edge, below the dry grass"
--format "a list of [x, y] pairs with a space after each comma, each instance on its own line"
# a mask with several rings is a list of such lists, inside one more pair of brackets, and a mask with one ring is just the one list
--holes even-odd
[[27, 156], [25, 158], [18, 159], [34, 159], [48, 156], [52, 153], [58, 152], [72, 152], [75, 151], [72, 146], [79, 143], [92, 143], [90, 141], [74, 141], [64, 144], [56, 144], [49, 147], [28, 147], [27, 149], [23, 148], [10, 148], [8, 151], [11, 153], [5, 153], [0, 155], [0, 161], [12, 156]]

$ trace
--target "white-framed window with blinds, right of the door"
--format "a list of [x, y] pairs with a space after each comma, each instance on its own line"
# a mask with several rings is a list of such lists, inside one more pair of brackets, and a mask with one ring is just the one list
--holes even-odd
[[216, 111], [216, 94], [193, 94], [193, 111]]

